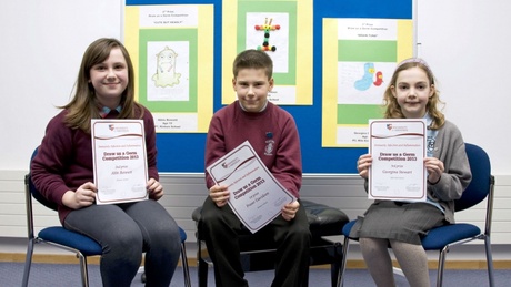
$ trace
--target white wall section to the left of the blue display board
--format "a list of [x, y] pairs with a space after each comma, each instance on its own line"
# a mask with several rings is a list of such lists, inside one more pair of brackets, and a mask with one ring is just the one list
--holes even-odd
[[27, 170], [87, 47], [121, 37], [122, 0], [0, 1], [0, 172]]

